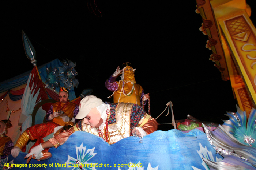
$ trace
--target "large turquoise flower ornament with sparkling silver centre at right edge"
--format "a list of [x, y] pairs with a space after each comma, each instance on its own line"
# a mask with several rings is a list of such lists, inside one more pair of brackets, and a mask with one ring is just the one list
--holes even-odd
[[248, 120], [246, 112], [237, 106], [237, 112], [227, 112], [229, 120], [223, 120], [224, 127], [237, 141], [256, 148], [256, 110], [252, 108]]

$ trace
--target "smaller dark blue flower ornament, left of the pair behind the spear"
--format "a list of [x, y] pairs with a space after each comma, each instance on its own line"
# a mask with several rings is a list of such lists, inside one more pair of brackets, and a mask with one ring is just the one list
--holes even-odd
[[52, 67], [50, 68], [46, 68], [46, 73], [47, 73], [47, 77], [46, 77], [46, 85], [45, 88], [52, 88], [53, 91], [55, 91], [57, 86], [60, 86], [60, 78], [59, 78], [59, 73], [57, 71], [57, 68], [55, 67], [54, 69], [52, 69]]

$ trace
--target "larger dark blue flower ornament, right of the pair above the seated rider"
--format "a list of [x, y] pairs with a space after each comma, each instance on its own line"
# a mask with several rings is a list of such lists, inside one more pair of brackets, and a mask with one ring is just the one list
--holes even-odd
[[76, 63], [71, 60], [63, 60], [63, 65], [59, 67], [59, 76], [61, 82], [64, 84], [65, 88], [69, 90], [72, 87], [78, 87], [78, 80], [75, 78], [78, 73], [75, 70]]

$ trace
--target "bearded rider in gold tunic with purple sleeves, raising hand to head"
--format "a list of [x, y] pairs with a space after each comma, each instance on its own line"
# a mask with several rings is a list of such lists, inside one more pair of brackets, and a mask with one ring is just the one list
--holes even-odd
[[[144, 94], [143, 88], [136, 83], [134, 72], [135, 69], [131, 67], [131, 63], [124, 63], [122, 70], [120, 70], [118, 66], [114, 74], [112, 74], [110, 78], [106, 80], [105, 86], [109, 91], [113, 92], [112, 95], [114, 96], [114, 103], [135, 103], [142, 106], [143, 100], [145, 101], [144, 104], [146, 104], [149, 93]], [[116, 82], [116, 78], [120, 74], [122, 74], [121, 80]]]

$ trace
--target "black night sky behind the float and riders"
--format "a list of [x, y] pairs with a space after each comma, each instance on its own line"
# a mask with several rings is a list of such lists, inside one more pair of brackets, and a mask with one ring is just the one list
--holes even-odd
[[[254, 0], [247, 3], [256, 23]], [[56, 58], [76, 62], [76, 96], [92, 88], [92, 95], [113, 102], [107, 98], [112, 92], [105, 88], [105, 80], [117, 66], [131, 62], [136, 82], [150, 93], [155, 118], [170, 100], [176, 120], [191, 114], [222, 124], [225, 111], [236, 112], [230, 81], [223, 81], [209, 61], [212, 51], [205, 48], [208, 38], [199, 31], [202, 18], [195, 13], [194, 0], [96, 0], [96, 4], [102, 17], [90, 13], [87, 1], [2, 2], [1, 81], [33, 68], [23, 49], [24, 30], [37, 52], [38, 66]], [[158, 123], [172, 122], [171, 114], [165, 114]], [[169, 129], [173, 126], [158, 128]]]

